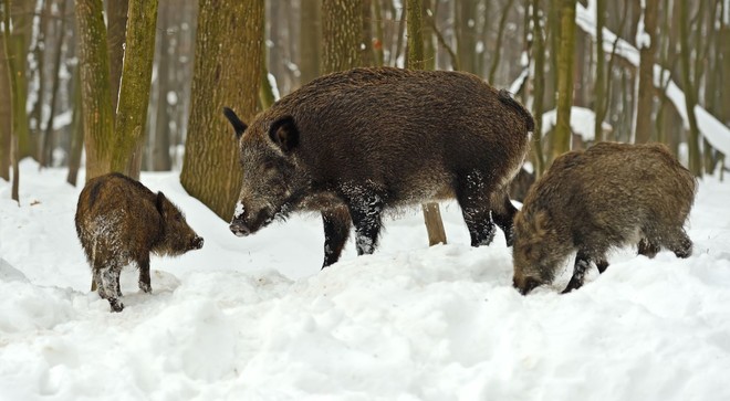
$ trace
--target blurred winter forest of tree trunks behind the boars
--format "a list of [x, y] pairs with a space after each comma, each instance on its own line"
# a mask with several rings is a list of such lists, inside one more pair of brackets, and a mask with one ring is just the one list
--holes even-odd
[[510, 89], [538, 123], [536, 175], [596, 140], [663, 141], [697, 176], [724, 170], [730, 148], [729, 0], [0, 1], [0, 178], [14, 199], [31, 157], [73, 184], [80, 168], [179, 170], [230, 215], [240, 172], [221, 108], [250, 122], [367, 65]]

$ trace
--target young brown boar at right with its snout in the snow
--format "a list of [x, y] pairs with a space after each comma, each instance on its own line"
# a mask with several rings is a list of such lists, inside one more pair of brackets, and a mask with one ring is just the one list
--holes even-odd
[[562, 155], [532, 187], [514, 220], [514, 287], [528, 294], [551, 283], [562, 262], [577, 251], [563, 293], [583, 285], [606, 252], [637, 244], [654, 257], [661, 247], [687, 257], [692, 242], [684, 230], [697, 182], [659, 144], [601, 143]]

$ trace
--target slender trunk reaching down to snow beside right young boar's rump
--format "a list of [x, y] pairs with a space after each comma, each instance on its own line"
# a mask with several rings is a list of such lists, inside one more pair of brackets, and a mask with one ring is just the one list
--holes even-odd
[[689, 148], [689, 171], [695, 176], [702, 175], [702, 159], [699, 150], [699, 128], [697, 126], [697, 117], [695, 116], [695, 106], [697, 105], [697, 92], [692, 83], [692, 74], [690, 71], [690, 53], [689, 48], [689, 0], [680, 1], [679, 12], [679, 45], [680, 45], [680, 63], [682, 84], [685, 89], [685, 105], [687, 108], [687, 119], [689, 120], [689, 133], [687, 136], [687, 145]]

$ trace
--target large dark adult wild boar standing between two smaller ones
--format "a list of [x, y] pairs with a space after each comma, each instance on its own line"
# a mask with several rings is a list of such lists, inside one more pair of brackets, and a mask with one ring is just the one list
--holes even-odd
[[357, 253], [367, 254], [384, 210], [456, 198], [473, 246], [492, 241], [494, 223], [511, 244], [517, 209], [508, 188], [533, 120], [476, 75], [355, 68], [312, 81], [250, 126], [229, 108], [225, 115], [243, 168], [236, 235], [295, 210], [321, 211], [327, 266], [340, 257], [351, 221]]

